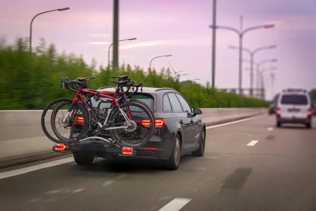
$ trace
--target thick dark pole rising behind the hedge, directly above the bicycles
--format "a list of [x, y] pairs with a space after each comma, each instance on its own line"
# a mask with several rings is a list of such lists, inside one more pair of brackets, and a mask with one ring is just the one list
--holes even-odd
[[113, 0], [113, 69], [119, 68], [119, 0]]

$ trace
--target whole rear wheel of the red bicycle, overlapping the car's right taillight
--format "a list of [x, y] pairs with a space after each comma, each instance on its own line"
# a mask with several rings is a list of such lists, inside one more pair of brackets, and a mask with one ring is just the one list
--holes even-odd
[[[123, 115], [124, 114], [124, 115]], [[153, 136], [155, 131], [155, 118], [150, 109], [138, 102], [127, 102], [115, 108], [110, 117], [110, 127], [120, 127], [128, 122], [128, 128], [110, 130], [112, 140], [123, 147], [141, 147]]]

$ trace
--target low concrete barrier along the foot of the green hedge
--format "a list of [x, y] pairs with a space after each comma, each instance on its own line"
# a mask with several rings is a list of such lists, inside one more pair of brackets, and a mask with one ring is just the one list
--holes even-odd
[[[267, 109], [209, 108], [202, 111], [203, 114], [199, 116], [207, 125], [212, 125], [266, 113]], [[42, 156], [44, 152], [52, 152], [54, 143], [45, 136], [41, 128], [42, 112], [42, 110], [0, 111], [0, 162], [34, 157], [34, 155]]]

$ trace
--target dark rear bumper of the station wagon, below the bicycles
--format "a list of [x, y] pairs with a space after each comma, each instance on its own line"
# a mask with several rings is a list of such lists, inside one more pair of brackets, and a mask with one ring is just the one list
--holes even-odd
[[171, 149], [162, 148], [161, 142], [148, 142], [144, 147], [133, 149], [132, 155], [123, 154], [122, 148], [100, 140], [84, 140], [77, 144], [71, 144], [68, 150], [54, 152], [88, 153], [94, 157], [106, 159], [149, 159], [167, 160], [171, 155]]

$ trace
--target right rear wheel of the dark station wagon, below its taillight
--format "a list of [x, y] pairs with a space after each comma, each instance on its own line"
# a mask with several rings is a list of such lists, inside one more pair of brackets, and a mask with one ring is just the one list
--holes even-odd
[[168, 160], [162, 160], [162, 166], [166, 170], [177, 170], [180, 165], [181, 158], [181, 142], [179, 134], [174, 139], [172, 152]]

